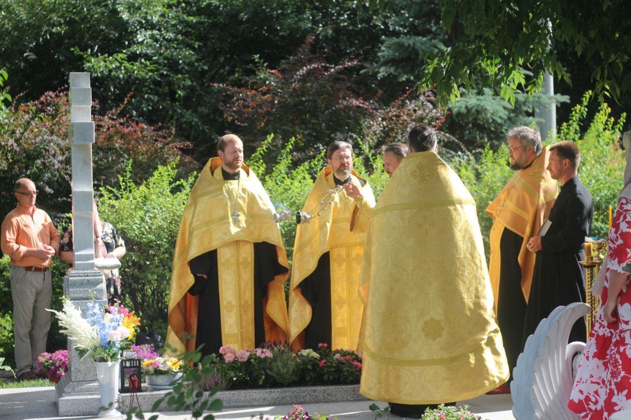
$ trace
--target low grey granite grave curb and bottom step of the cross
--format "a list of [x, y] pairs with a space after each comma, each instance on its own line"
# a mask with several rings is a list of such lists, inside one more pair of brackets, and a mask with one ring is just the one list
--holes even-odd
[[[70, 382], [63, 376], [57, 383], [57, 409], [59, 416], [94, 416], [100, 407], [97, 382]], [[138, 394], [140, 407], [144, 412], [153, 411], [156, 400], [169, 391], [145, 391]], [[147, 387], [148, 388], [148, 387]], [[206, 393], [208, 394], [208, 393]], [[320, 402], [363, 401], [366, 397], [359, 393], [359, 385], [333, 385], [331, 387], [292, 387], [266, 388], [234, 391], [220, 391], [213, 399], [221, 399], [223, 407], [254, 407], [257, 405], [317, 404]], [[131, 394], [119, 394], [119, 410], [127, 412]], [[134, 399], [134, 407], [136, 402]], [[172, 411], [164, 400], [156, 411]]]

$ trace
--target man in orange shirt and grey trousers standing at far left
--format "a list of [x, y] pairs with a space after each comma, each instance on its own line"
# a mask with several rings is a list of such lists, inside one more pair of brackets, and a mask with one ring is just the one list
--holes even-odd
[[35, 207], [37, 189], [28, 178], [13, 187], [18, 206], [2, 223], [0, 245], [11, 258], [11, 295], [16, 375], [35, 379], [32, 368], [46, 351], [50, 328], [50, 259], [59, 251], [59, 232], [45, 211]]

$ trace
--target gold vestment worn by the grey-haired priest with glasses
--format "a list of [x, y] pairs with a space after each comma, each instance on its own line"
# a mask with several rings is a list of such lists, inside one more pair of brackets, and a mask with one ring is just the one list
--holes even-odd
[[521, 267], [521, 289], [528, 302], [536, 254], [530, 252], [526, 244], [541, 229], [558, 195], [557, 181], [553, 180], [550, 172], [546, 170], [549, 159], [550, 150], [549, 146], [546, 146], [532, 165], [519, 170], [509, 180], [486, 209], [488, 215], [493, 218], [493, 227], [489, 235], [491, 257], [488, 268], [495, 310], [500, 289], [500, 240], [505, 228], [524, 238], [517, 260]]

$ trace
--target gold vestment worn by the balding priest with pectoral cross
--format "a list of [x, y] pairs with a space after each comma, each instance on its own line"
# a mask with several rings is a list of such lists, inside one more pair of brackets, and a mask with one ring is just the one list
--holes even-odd
[[[235, 202], [237, 223], [232, 217]], [[221, 175], [220, 158], [212, 158], [204, 166], [184, 208], [175, 243], [167, 343], [177, 351], [194, 349], [194, 337], [184, 340], [179, 337], [184, 332], [195, 334], [197, 330], [198, 298], [187, 293], [194, 283], [188, 262], [215, 249], [223, 345], [235, 349], [254, 348], [253, 243], [276, 245], [279, 264], [288, 267], [285, 246], [273, 214], [274, 206], [268, 194], [247, 166], [242, 166], [240, 180], [228, 181]], [[280, 274], [267, 286], [263, 305], [267, 340], [285, 340], [288, 336], [283, 289], [287, 277], [287, 273]]]

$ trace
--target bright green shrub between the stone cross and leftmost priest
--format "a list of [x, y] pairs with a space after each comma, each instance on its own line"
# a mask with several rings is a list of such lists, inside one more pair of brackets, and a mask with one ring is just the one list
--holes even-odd
[[141, 185], [134, 184], [131, 162], [117, 187], [100, 189], [98, 211], [125, 240], [121, 259], [122, 294], [143, 327], [164, 339], [175, 238], [196, 174], [177, 180], [177, 161], [158, 166]]

